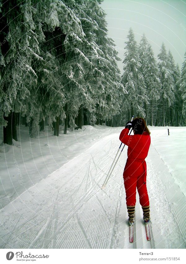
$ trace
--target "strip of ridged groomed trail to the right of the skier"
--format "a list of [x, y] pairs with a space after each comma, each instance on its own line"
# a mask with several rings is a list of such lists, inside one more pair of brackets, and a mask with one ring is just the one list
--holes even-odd
[[146, 160], [152, 246], [179, 248], [180, 245], [180, 248], [185, 248], [186, 197], [152, 143]]

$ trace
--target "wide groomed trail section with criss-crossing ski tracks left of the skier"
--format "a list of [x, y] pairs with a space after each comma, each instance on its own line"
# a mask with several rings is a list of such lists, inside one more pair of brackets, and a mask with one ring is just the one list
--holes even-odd
[[117, 248], [124, 160], [100, 188], [117, 141], [104, 138], [4, 207], [0, 247]]

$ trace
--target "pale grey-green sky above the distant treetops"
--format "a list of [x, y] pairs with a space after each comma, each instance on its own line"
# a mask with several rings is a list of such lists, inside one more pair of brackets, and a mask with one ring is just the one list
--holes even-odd
[[[115, 41], [122, 61], [131, 27], [138, 44], [146, 35], [156, 58], [164, 42], [181, 70], [186, 51], [186, 0], [104, 0], [101, 7], [107, 14], [108, 36]], [[121, 73], [122, 61], [118, 62]]]

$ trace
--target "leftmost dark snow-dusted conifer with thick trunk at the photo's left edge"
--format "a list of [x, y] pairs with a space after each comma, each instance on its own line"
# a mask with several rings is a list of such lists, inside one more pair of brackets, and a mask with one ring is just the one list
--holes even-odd
[[[16, 8], [15, 8], [16, 5]], [[26, 105], [23, 100], [31, 100], [32, 83], [37, 82], [37, 75], [31, 66], [33, 56], [38, 56], [38, 35], [34, 32], [33, 14], [35, 8], [32, 2], [18, 0], [4, 2], [1, 7], [1, 123], [4, 143], [12, 144], [16, 126], [14, 113], [25, 113]], [[41, 58], [42, 59], [42, 58]], [[31, 83], [31, 84], [30, 84]], [[12, 122], [11, 122], [12, 120]], [[8, 127], [7, 121], [9, 122]]]

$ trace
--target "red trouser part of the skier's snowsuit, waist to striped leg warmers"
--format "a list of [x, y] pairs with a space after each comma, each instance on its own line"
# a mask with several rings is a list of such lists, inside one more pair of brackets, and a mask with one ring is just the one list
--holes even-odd
[[[136, 167], [136, 169], [134, 169]], [[124, 186], [126, 191], [126, 205], [135, 206], [136, 203], [136, 187], [139, 193], [139, 202], [141, 206], [149, 206], [146, 171], [144, 165], [133, 163], [125, 168], [123, 172]]]

